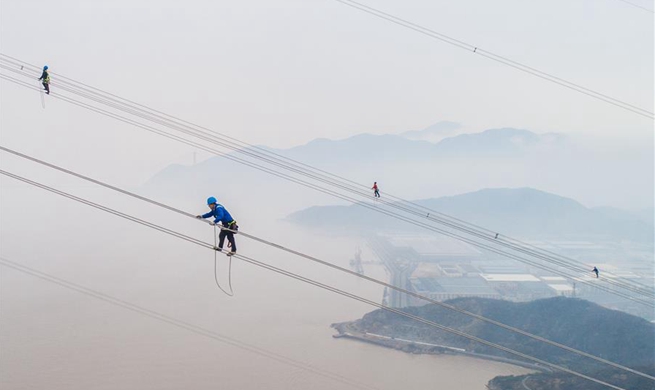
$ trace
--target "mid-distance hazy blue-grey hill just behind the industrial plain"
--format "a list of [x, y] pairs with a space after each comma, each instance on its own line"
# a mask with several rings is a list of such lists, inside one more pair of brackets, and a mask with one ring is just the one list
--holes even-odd
[[[653, 225], [609, 208], [587, 208], [573, 199], [532, 188], [497, 188], [418, 200], [415, 203], [508, 235], [534, 238], [609, 237], [614, 241], [652, 242]], [[375, 207], [391, 210], [377, 203]], [[373, 210], [352, 206], [316, 206], [295, 212], [288, 220], [307, 227], [335, 228], [343, 224], [363, 231], [417, 230]]]

